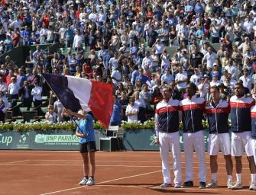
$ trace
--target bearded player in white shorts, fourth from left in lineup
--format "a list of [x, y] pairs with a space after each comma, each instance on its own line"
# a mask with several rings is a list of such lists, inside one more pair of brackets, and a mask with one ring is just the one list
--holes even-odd
[[254, 99], [246, 98], [245, 88], [241, 83], [235, 84], [235, 95], [230, 99], [232, 156], [235, 156], [236, 184], [233, 190], [241, 189], [241, 156], [246, 152], [251, 171], [250, 190], [256, 187], [256, 168], [251, 149], [251, 107]]

